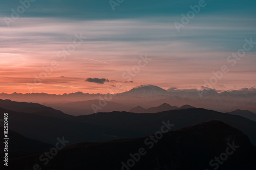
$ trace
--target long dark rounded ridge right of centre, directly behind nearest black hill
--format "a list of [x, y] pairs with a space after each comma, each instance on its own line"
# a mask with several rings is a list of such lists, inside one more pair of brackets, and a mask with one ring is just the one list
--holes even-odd
[[[129, 112], [111, 112], [98, 113], [91, 115], [78, 116], [80, 120], [84, 120], [93, 125], [101, 125], [108, 127], [118, 127], [133, 131], [135, 136], [143, 136], [143, 134], [151, 134], [157, 130], [162, 121], [170, 120], [175, 124], [174, 130], [208, 122], [210, 120], [220, 120], [234, 128], [241, 130], [249, 136], [251, 142], [256, 145], [256, 123], [247, 118], [220, 113], [206, 109], [182, 109], [169, 110], [160, 113], [129, 113]], [[109, 132], [110, 134], [111, 132]], [[115, 135], [115, 134], [111, 134]], [[126, 134], [130, 136], [130, 134]], [[115, 135], [118, 136], [118, 135]], [[135, 137], [134, 136], [134, 137]]]

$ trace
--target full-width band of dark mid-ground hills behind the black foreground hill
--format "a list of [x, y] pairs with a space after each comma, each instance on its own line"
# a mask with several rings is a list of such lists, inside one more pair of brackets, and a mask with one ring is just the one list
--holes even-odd
[[[25, 103], [26, 104], [26, 103]], [[84, 116], [65, 115], [59, 112], [48, 114], [44, 109], [37, 112], [15, 112], [0, 108], [8, 113], [9, 128], [28, 138], [54, 144], [57, 137], [65, 136], [71, 143], [82, 141], [106, 141], [113, 138], [142, 137], [154, 133], [162, 121], [170, 120], [174, 130], [210, 120], [222, 122], [241, 130], [256, 145], [256, 122], [239, 115], [220, 113], [206, 109], [169, 110], [159, 113], [110, 112]], [[39, 109], [37, 108], [37, 109]], [[19, 108], [20, 109], [20, 108]], [[40, 114], [39, 114], [40, 113]], [[46, 114], [45, 114], [46, 113]], [[0, 119], [3, 119], [1, 114]], [[3, 126], [1, 124], [0, 126]]]

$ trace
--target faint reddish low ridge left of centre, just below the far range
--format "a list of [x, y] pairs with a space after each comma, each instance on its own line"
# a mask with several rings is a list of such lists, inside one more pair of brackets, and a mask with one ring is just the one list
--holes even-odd
[[93, 114], [95, 112], [93, 108], [95, 108], [97, 112], [128, 111], [131, 108], [130, 106], [125, 106], [115, 102], [100, 100], [70, 103], [45, 103], [44, 105], [53, 107], [74, 116]]

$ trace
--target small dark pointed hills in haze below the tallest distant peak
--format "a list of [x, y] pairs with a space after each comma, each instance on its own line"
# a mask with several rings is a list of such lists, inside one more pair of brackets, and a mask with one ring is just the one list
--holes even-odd
[[163, 103], [160, 106], [151, 107], [151, 108], [148, 108], [148, 109], [144, 109], [140, 106], [137, 106], [135, 108], [132, 108], [130, 110], [130, 112], [133, 112], [133, 113], [158, 113], [158, 112], [167, 111], [167, 110], [174, 110], [174, 109], [178, 109], [178, 107], [177, 106], [170, 106], [167, 103]]

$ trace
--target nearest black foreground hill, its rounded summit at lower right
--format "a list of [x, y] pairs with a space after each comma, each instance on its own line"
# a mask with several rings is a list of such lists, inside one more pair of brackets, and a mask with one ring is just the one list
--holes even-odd
[[[224, 154], [226, 152], [229, 155]], [[10, 168], [31, 169], [38, 157], [39, 154], [9, 160]], [[256, 149], [245, 134], [222, 122], [211, 121], [170, 131], [160, 138], [152, 135], [73, 144], [58, 152], [47, 164], [47, 169], [198, 170], [218, 165], [220, 170], [249, 170], [255, 169], [255, 160]], [[45, 168], [44, 165], [41, 167]]]

